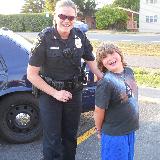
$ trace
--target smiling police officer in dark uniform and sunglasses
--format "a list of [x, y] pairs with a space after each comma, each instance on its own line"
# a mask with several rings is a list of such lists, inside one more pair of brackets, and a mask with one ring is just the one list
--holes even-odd
[[[81, 58], [98, 78], [103, 76], [90, 42], [73, 28], [75, 17], [76, 6], [71, 0], [57, 2], [55, 27], [39, 33], [27, 68], [27, 78], [42, 91], [39, 107], [45, 160], [75, 160], [82, 98]], [[43, 77], [62, 85], [53, 86]]]

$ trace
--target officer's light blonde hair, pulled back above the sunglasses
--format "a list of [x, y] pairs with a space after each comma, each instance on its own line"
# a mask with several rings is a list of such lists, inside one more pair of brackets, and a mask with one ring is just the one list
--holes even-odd
[[58, 12], [59, 8], [61, 7], [71, 7], [75, 10], [75, 13], [77, 15], [77, 6], [75, 5], [75, 3], [71, 0], [60, 0], [56, 3], [56, 7], [55, 7], [55, 14]]

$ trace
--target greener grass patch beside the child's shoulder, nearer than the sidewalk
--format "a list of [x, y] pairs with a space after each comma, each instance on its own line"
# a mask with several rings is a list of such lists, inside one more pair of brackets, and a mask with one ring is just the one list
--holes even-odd
[[139, 86], [160, 88], [160, 69], [132, 67]]

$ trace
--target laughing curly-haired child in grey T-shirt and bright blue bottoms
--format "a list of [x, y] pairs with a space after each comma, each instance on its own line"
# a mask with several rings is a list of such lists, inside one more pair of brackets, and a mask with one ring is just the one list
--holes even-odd
[[137, 85], [118, 47], [103, 43], [97, 50], [104, 72], [96, 88], [94, 112], [102, 160], [133, 160], [135, 131], [139, 128]]

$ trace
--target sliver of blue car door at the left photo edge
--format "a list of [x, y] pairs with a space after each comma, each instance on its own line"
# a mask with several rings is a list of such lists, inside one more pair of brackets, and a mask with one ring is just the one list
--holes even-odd
[[7, 79], [7, 66], [2, 55], [0, 54], [0, 91], [7, 85]]

